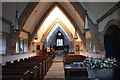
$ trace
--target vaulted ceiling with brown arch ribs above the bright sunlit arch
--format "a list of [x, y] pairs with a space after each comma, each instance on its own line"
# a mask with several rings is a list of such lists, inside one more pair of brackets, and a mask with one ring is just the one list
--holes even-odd
[[20, 37], [28, 37], [31, 39], [29, 41], [32, 41], [35, 32], [39, 30], [40, 26], [48, 17], [52, 9], [54, 9], [54, 7], [57, 5], [65, 14], [65, 16], [69, 19], [74, 28], [77, 28], [78, 34], [83, 40], [85, 16], [84, 9], [88, 11], [89, 17], [96, 24], [97, 20], [115, 4], [116, 3], [114, 2], [3, 2], [2, 17], [5, 19], [7, 24], [9, 23], [10, 25], [12, 25], [17, 9], [19, 11], [20, 17], [22, 16], [22, 18], [20, 19], [20, 21], [22, 22], [19, 23], [21, 31], [18, 35]]

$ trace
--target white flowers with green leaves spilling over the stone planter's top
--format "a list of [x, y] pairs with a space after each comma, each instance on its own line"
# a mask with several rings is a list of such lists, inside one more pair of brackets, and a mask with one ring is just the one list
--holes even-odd
[[111, 69], [118, 66], [115, 58], [106, 58], [106, 59], [86, 58], [83, 64], [85, 65], [85, 67], [90, 69], [96, 69], [96, 68]]

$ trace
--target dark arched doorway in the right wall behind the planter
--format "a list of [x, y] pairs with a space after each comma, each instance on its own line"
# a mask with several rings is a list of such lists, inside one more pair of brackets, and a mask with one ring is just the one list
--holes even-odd
[[114, 57], [120, 61], [120, 20], [110, 20], [103, 31], [103, 45], [106, 57]]

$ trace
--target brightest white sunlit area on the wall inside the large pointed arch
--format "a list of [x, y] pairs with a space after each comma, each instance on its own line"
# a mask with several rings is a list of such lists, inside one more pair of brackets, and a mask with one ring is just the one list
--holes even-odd
[[70, 21], [67, 19], [67, 17], [61, 12], [61, 10], [58, 7], [55, 7], [54, 10], [49, 14], [49, 16], [46, 18], [46, 20], [43, 23], [44, 32], [47, 30], [48, 26], [52, 24], [56, 19], [59, 19], [62, 21], [67, 27], [72, 27], [74, 31], [73, 25], [70, 23]]

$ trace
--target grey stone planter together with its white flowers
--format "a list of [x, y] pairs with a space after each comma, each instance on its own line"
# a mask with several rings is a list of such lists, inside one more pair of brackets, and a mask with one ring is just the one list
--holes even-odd
[[114, 68], [118, 66], [115, 58], [86, 58], [83, 63], [89, 78], [112, 78]]

